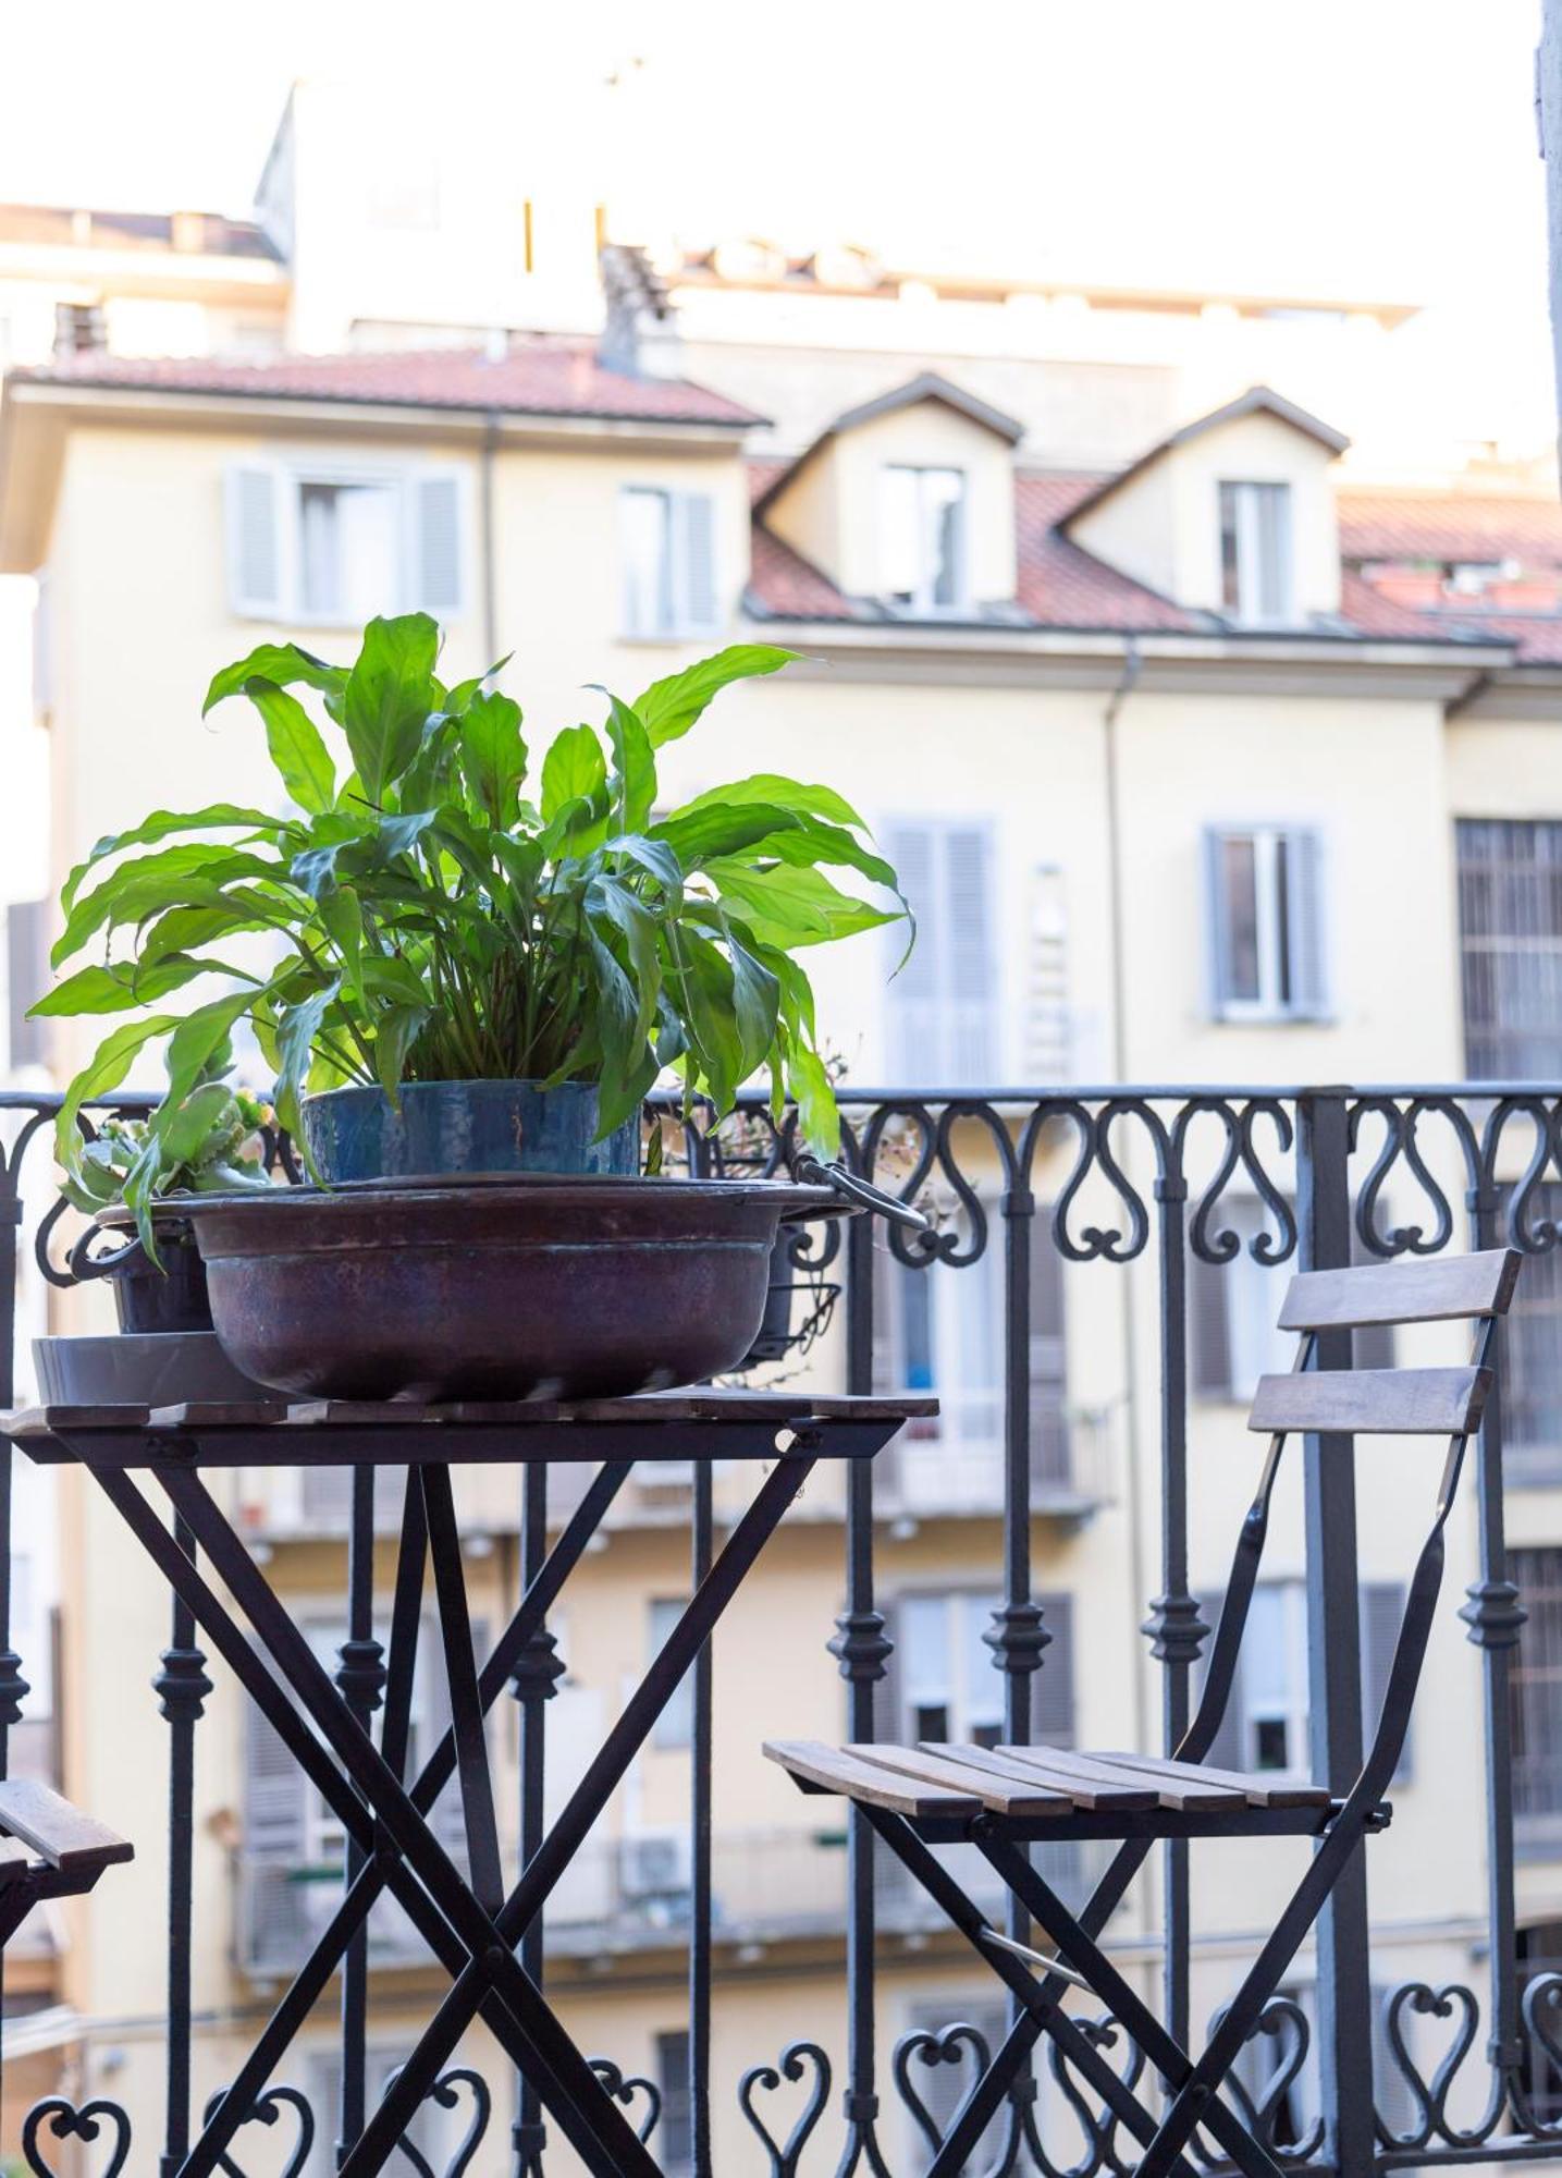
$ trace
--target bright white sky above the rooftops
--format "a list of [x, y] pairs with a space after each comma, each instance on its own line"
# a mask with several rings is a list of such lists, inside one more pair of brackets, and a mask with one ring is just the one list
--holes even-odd
[[[0, 0], [0, 196], [248, 205], [300, 74], [411, 74], [644, 231], [1442, 305], [1545, 346], [1538, 0]], [[433, 39], [437, 28], [437, 44]], [[607, 89], [607, 78], [618, 78]]]

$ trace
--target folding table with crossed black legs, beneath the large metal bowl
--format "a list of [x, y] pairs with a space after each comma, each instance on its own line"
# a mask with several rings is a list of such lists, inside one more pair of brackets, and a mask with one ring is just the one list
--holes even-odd
[[[372, 1409], [344, 1407], [181, 1407], [152, 1416], [139, 1416], [135, 1409], [122, 1409], [117, 1416], [113, 1409], [78, 1414], [44, 1409], [7, 1424], [13, 1442], [33, 1457], [72, 1459], [91, 1470], [213, 1651], [363, 1853], [357, 1877], [211, 2113], [178, 2178], [211, 2178], [222, 2167], [237, 2128], [324, 1995], [355, 1932], [363, 1928], [383, 1891], [405, 1908], [433, 1956], [450, 1973], [453, 1986], [352, 2143], [342, 2163], [342, 2178], [372, 2178], [385, 2167], [461, 2034], [479, 2015], [516, 2069], [535, 2084], [540, 2100], [594, 2178], [657, 2178], [657, 2163], [520, 1965], [516, 1956], [520, 1938], [544, 1910], [816, 1461], [872, 1457], [907, 1416], [929, 1411], [931, 1405], [931, 1400], [805, 1396], [781, 1400], [774, 1394], [709, 1394], [685, 1400], [648, 1396], [553, 1411], [511, 1407], [485, 1414], [479, 1407], [461, 1407], [433, 1411], [426, 1427], [418, 1427], [418, 1418], [409, 1418], [407, 1409], [402, 1416], [374, 1416]], [[313, 1435], [309, 1464], [407, 1461], [379, 1747], [200, 1477], [202, 1466], [296, 1466], [302, 1451], [300, 1431]], [[646, 1455], [764, 1459], [772, 1466], [603, 1738], [542, 1847], [507, 1891], [483, 1721], [522, 1651], [542, 1631], [563, 1583], [629, 1477], [633, 1459]], [[450, 1488], [450, 1466], [463, 1459], [513, 1464], [600, 1459], [598, 1475], [481, 1668], [472, 1653]], [[172, 1527], [131, 1479], [131, 1468], [152, 1472], [176, 1514]], [[194, 1549], [183, 1546], [181, 1527]], [[231, 1603], [200, 1570], [202, 1557], [224, 1583]], [[407, 1779], [413, 1668], [429, 1559], [450, 1690], [450, 1727], [420, 1773]], [[241, 1620], [248, 1623], [274, 1671], [257, 1653]], [[453, 1773], [459, 1779], [470, 1875], [453, 1862], [429, 1821]]]

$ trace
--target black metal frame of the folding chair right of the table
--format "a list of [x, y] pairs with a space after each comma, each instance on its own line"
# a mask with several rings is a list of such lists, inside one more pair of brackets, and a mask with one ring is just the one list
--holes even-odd
[[[1521, 1259], [1512, 1250], [1505, 1250], [1501, 1257], [1492, 1252], [1482, 1259], [1458, 1261], [1462, 1265], [1466, 1263], [1471, 1272], [1475, 1272], [1477, 1263], [1488, 1265], [1488, 1309], [1405, 1307], [1403, 1313], [1386, 1313], [1379, 1302], [1373, 1313], [1360, 1320], [1425, 1322], [1436, 1318], [1458, 1320], [1479, 1316], [1479, 1333], [1475, 1337], [1471, 1370], [1316, 1372], [1310, 1376], [1307, 1392], [1316, 1411], [1307, 1414], [1305, 1420], [1281, 1420], [1279, 1427], [1273, 1429], [1257, 1492], [1247, 1518], [1242, 1520], [1199, 1710], [1183, 1740], [1175, 1749], [1175, 1760], [1188, 1764], [1201, 1762], [1214, 1745], [1231, 1699], [1238, 1653], [1264, 1555], [1270, 1498], [1286, 1437], [1297, 1427], [1312, 1427], [1312, 1431], [1323, 1437], [1325, 1446], [1334, 1437], [1344, 1440], [1344, 1444], [1353, 1448], [1353, 1437], [1358, 1433], [1371, 1433], [1371, 1420], [1351, 1422], [1349, 1407], [1340, 1409], [1347, 1418], [1329, 1429], [1325, 1409], [1318, 1407], [1318, 1400], [1325, 1400], [1327, 1405], [1329, 1376], [1338, 1376], [1340, 1385], [1362, 1385], [1362, 1398], [1366, 1398], [1366, 1379], [1373, 1376], [1401, 1381], [1416, 1376], [1425, 1381], [1429, 1390], [1429, 1379], [1434, 1376], [1460, 1376], [1468, 1387], [1464, 1409], [1458, 1416], [1462, 1427], [1455, 1427], [1449, 1433], [1436, 1516], [1410, 1579], [1405, 1612], [1388, 1673], [1384, 1710], [1360, 1775], [1342, 1799], [1331, 1799], [1327, 1806], [1253, 1806], [1238, 1812], [1203, 1814], [1179, 1814], [1166, 1808], [1149, 1810], [1144, 1814], [1114, 1814], [1107, 1810], [1096, 1814], [1075, 1812], [1062, 1821], [1055, 1816], [1016, 1819], [992, 1810], [983, 1810], [975, 1816], [931, 1812], [901, 1814], [870, 1801], [855, 1801], [859, 1814], [872, 1825], [883, 1845], [896, 1856], [907, 1873], [922, 1884], [933, 1904], [949, 1917], [955, 1930], [972, 1945], [988, 1967], [992, 1967], [1014, 1999], [1014, 2023], [988, 2063], [983, 2076], [975, 2082], [955, 2113], [951, 2128], [929, 2165], [927, 2178], [957, 2178], [957, 2174], [966, 2169], [983, 2130], [999, 2115], [999, 2108], [1014, 2087], [1020, 2067], [1029, 2060], [1029, 2054], [1042, 2034], [1053, 2039], [1062, 2056], [1103, 2097], [1125, 2130], [1142, 2143], [1144, 2156], [1136, 2167], [1136, 2178], [1168, 2178], [1170, 2171], [1177, 2171], [1179, 2178], [1194, 2178], [1194, 2167], [1190, 2165], [1186, 2150], [1199, 2126], [1210, 2132], [1244, 2178], [1279, 2178], [1279, 2163], [1275, 2156], [1253, 2137], [1231, 2104], [1220, 2100], [1218, 2091], [1244, 2041], [1257, 2026], [1264, 2006], [1275, 1995], [1286, 1969], [1318, 1919], [1329, 1893], [1340, 1882], [1353, 1856], [1362, 1849], [1368, 1832], [1384, 1830], [1390, 1819], [1384, 1792], [1403, 1753], [1412, 1703], [1427, 1655], [1436, 1601], [1442, 1586], [1445, 1529], [1453, 1507], [1464, 1453], [1479, 1424], [1479, 1411], [1486, 1390], [1490, 1387], [1492, 1342], [1497, 1324], [1508, 1311]], [[1453, 1270], [1451, 1259], [1442, 1259], [1442, 1265], [1449, 1272]], [[1342, 1300], [1338, 1298], [1340, 1294], [1364, 1292], [1360, 1285], [1364, 1278], [1379, 1281], [1371, 1289], [1384, 1292], [1384, 1278], [1392, 1278], [1397, 1274], [1401, 1278], [1405, 1274], [1414, 1278], [1416, 1274], [1425, 1276], [1429, 1270], [1431, 1263], [1371, 1265], [1366, 1270], [1303, 1274], [1294, 1278], [1279, 1318], [1281, 1329], [1297, 1329], [1301, 1333], [1292, 1372], [1290, 1376], [1264, 1379], [1249, 1427], [1266, 1427], [1262, 1420], [1266, 1409], [1284, 1418], [1290, 1407], [1301, 1416], [1299, 1403], [1294, 1398], [1288, 1400], [1284, 1387], [1292, 1385], [1299, 1374], [1314, 1372], [1321, 1329], [1344, 1329], [1344, 1324], [1351, 1322], [1349, 1313], [1344, 1313]], [[1307, 1322], [1307, 1294], [1318, 1292], [1323, 1278], [1331, 1281], [1331, 1313], [1325, 1313], [1321, 1324]], [[1449, 1398], [1458, 1403], [1458, 1387], [1449, 1390], [1449, 1385], [1438, 1385], [1436, 1392], [1438, 1396], [1447, 1392]], [[1388, 1407], [1384, 1407], [1384, 1418], [1388, 1418]], [[1431, 1433], [1436, 1427], [1436, 1433], [1440, 1435], [1445, 1433], [1447, 1422], [1416, 1424], [1397, 1420], [1388, 1422], [1388, 1427], [1397, 1433]], [[868, 1749], [861, 1749], [861, 1753], [866, 1755]], [[785, 1751], [777, 1751], [777, 1758], [785, 1762]], [[803, 1790], [814, 1792], [844, 1788], [840, 1784], [820, 1784], [809, 1777], [796, 1777], [796, 1782]], [[1173, 2039], [1138, 1991], [1112, 1965], [1107, 1954], [1101, 1949], [1099, 1936], [1155, 1840], [1236, 1838], [1262, 1834], [1316, 1836], [1318, 1849], [1307, 1867], [1307, 1873], [1275, 1923], [1273, 1934], [1247, 1971], [1238, 1993], [1223, 2010], [1203, 2054], [1192, 2058], [1188, 2049]], [[1025, 1847], [1044, 1838], [1123, 1840], [1090, 1901], [1079, 1912], [1070, 1912], [1057, 1891], [1031, 1867]], [[977, 1845], [1025, 1914], [1029, 1914], [1029, 1919], [1046, 1932], [1055, 1945], [1055, 1958], [1049, 1958], [1046, 1954], [1036, 1951], [1009, 1936], [1001, 1936], [994, 1928], [990, 1928], [985, 1914], [970, 1901], [966, 1891], [962, 1891], [949, 1869], [933, 1853], [931, 1847], [940, 1843]], [[1088, 1989], [1094, 1997], [1105, 2002], [1127, 2034], [1140, 2045], [1149, 2065], [1160, 2073], [1168, 2093], [1168, 2102], [1160, 2117], [1155, 2117], [1155, 2113], [1120, 2080], [1114, 2067], [1083, 2036], [1079, 2026], [1062, 2010], [1062, 1997], [1070, 1986]]]

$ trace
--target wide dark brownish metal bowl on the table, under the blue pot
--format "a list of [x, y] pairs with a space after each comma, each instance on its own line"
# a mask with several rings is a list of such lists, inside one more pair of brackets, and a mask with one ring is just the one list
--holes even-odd
[[607, 1398], [735, 1368], [829, 1187], [496, 1174], [181, 1202], [235, 1368], [313, 1398]]

